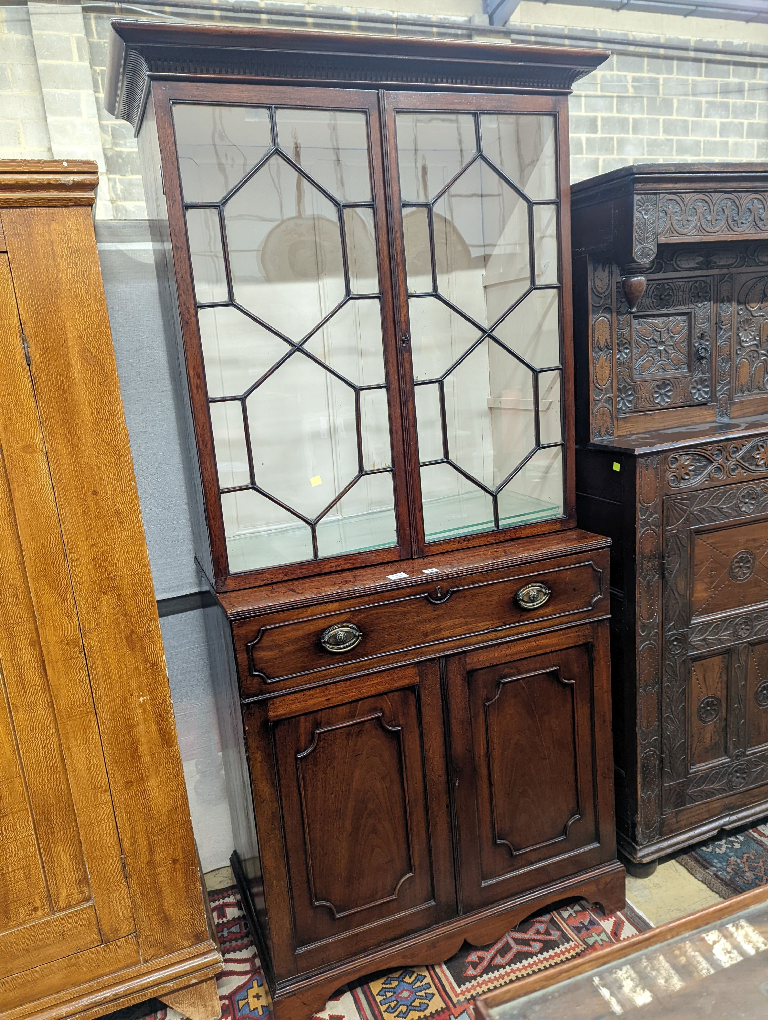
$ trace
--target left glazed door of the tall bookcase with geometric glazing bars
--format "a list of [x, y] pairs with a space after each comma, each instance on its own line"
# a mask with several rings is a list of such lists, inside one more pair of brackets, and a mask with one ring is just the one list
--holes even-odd
[[217, 579], [408, 555], [375, 93], [169, 92]]

